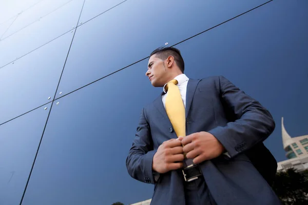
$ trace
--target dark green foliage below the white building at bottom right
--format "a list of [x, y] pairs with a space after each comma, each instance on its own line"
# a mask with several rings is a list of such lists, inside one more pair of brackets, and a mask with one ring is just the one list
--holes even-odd
[[308, 204], [308, 171], [297, 172], [287, 169], [277, 172], [273, 190], [285, 205]]

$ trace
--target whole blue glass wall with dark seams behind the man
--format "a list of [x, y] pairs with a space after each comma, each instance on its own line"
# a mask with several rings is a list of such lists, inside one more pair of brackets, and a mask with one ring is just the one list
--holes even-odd
[[149, 53], [175, 46], [189, 78], [224, 75], [308, 133], [308, 2], [15, 0], [0, 8], [0, 204], [130, 204], [153, 186], [125, 159], [161, 92]]

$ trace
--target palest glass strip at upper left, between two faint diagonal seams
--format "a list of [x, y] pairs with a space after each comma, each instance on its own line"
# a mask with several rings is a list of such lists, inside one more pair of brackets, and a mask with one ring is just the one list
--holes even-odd
[[[21, 31], [1, 40], [0, 68], [76, 26], [83, 0], [72, 1]], [[67, 17], [69, 15], [69, 18]]]

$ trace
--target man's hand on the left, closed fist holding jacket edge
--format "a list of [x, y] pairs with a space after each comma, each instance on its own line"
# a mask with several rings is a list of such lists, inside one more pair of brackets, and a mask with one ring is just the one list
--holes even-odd
[[152, 169], [158, 173], [166, 173], [183, 167], [183, 147], [179, 139], [170, 139], [161, 144], [153, 156]]

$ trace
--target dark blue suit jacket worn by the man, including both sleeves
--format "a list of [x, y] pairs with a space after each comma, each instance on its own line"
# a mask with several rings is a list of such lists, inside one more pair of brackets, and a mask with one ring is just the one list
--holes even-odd
[[[277, 162], [262, 143], [274, 128], [271, 114], [223, 76], [189, 79], [186, 135], [209, 132], [230, 155], [199, 165], [217, 204], [279, 204], [268, 184], [276, 173]], [[153, 177], [153, 155], [171, 138], [177, 135], [159, 96], [142, 109], [126, 159], [131, 177], [155, 184], [151, 204], [185, 204], [181, 170], [160, 174], [157, 181]]]

